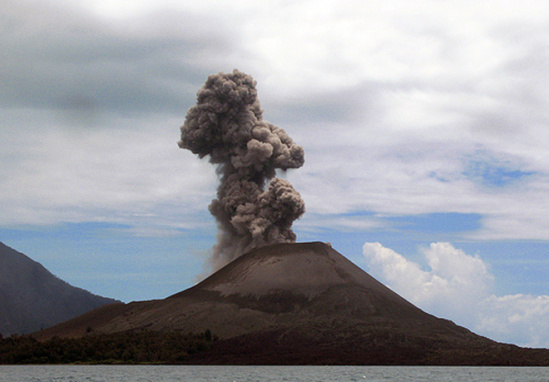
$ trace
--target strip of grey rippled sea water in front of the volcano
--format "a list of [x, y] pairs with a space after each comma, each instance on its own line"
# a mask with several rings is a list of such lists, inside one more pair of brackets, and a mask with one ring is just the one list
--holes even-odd
[[549, 367], [0, 365], [0, 382], [549, 381]]

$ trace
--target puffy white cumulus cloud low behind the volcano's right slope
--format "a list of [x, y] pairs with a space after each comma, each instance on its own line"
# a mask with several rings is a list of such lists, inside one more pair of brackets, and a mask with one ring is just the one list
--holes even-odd
[[422, 249], [423, 270], [380, 243], [365, 243], [363, 253], [374, 277], [428, 313], [497, 341], [549, 347], [549, 296], [495, 296], [480, 257], [432, 243]]

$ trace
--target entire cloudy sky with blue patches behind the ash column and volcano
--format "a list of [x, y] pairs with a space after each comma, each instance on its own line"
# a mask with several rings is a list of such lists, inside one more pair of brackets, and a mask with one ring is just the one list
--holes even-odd
[[257, 81], [305, 150], [298, 241], [423, 310], [549, 347], [549, 3], [5, 0], [0, 241], [125, 302], [208, 275], [206, 78]]

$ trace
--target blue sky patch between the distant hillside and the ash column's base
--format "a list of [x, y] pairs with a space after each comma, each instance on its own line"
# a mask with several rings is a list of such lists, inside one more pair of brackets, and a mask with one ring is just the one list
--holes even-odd
[[34, 229], [0, 228], [0, 241], [54, 275], [92, 293], [129, 302], [164, 298], [192, 286], [203, 272], [215, 233], [132, 237], [130, 226], [85, 222]]

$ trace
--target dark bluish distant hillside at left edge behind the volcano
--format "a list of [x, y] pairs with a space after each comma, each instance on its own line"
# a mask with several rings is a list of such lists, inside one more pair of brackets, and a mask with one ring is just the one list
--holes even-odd
[[116, 300], [73, 287], [0, 242], [0, 334], [30, 333]]

